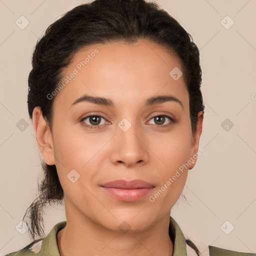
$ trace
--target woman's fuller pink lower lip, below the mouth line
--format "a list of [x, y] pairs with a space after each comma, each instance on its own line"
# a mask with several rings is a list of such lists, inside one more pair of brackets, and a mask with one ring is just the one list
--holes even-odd
[[153, 187], [122, 189], [104, 186], [102, 186], [102, 188], [107, 194], [121, 201], [137, 201], [146, 196], [153, 189]]

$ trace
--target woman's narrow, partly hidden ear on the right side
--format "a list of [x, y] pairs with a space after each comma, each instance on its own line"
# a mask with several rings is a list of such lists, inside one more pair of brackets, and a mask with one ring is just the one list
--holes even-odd
[[[188, 169], [192, 169], [196, 163], [197, 160], [197, 151], [199, 146], [199, 139], [202, 132], [202, 120], [203, 120], [203, 112], [200, 111], [197, 114], [197, 122], [196, 122], [196, 131], [192, 135], [191, 138], [191, 147], [190, 147], [190, 160], [193, 161], [193, 163], [190, 164]], [[199, 155], [199, 154], [198, 154]]]

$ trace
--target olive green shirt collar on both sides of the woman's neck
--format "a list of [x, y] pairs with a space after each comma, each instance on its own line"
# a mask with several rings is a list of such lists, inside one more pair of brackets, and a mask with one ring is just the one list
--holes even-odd
[[[66, 220], [58, 222], [53, 226], [47, 236], [42, 240], [41, 250], [38, 253], [38, 256], [45, 255], [46, 252], [50, 253], [51, 255], [60, 256], [57, 247], [56, 235], [60, 229], [65, 227], [65, 225]], [[177, 222], [171, 216], [169, 221], [169, 236], [173, 243], [173, 256], [187, 255], [185, 237]]]

